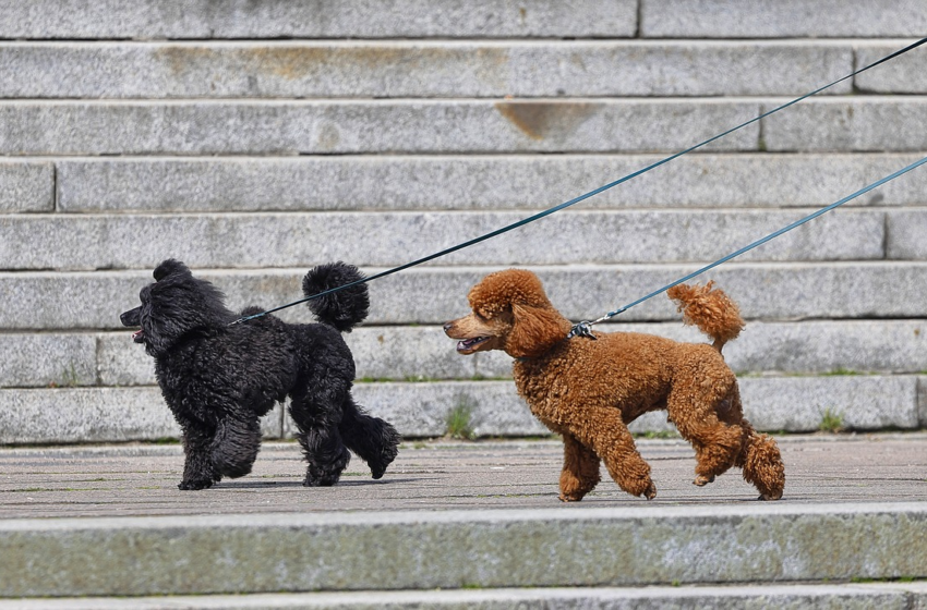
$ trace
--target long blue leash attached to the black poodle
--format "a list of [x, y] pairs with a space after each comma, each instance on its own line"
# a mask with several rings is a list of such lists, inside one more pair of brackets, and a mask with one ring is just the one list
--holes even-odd
[[[402, 271], [402, 270], [408, 269], [408, 268], [410, 268], [410, 267], [414, 267], [414, 266], [417, 266], [417, 265], [421, 265], [421, 264], [423, 264], [423, 263], [428, 263], [429, 260], [434, 260], [435, 258], [440, 258], [440, 257], [442, 257], [442, 256], [446, 256], [446, 255], [448, 255], [448, 254], [455, 253], [455, 252], [457, 252], [458, 249], [464, 249], [464, 248], [466, 248], [466, 247], [470, 247], [470, 246], [472, 246], [472, 245], [479, 244], [480, 242], [484, 242], [484, 241], [486, 241], [486, 240], [489, 240], [489, 239], [491, 239], [491, 237], [495, 237], [496, 235], [502, 235], [503, 233], [507, 233], [507, 232], [511, 231], [513, 229], [517, 229], [517, 228], [519, 228], [519, 227], [522, 227], [522, 225], [525, 225], [525, 224], [528, 224], [529, 222], [534, 222], [535, 220], [540, 220], [541, 218], [544, 218], [545, 216], [550, 216], [550, 215], [552, 215], [552, 213], [554, 213], [554, 212], [557, 212], [557, 211], [559, 211], [559, 210], [562, 210], [562, 209], [568, 208], [568, 207], [570, 207], [570, 206], [573, 206], [573, 205], [576, 205], [576, 204], [578, 204], [578, 203], [580, 203], [580, 202], [585, 202], [585, 200], [586, 200], [586, 199], [588, 199], [589, 197], [594, 197], [595, 195], [598, 195], [598, 194], [600, 194], [600, 193], [603, 193], [603, 192], [605, 192], [605, 191], [607, 191], [607, 190], [610, 190], [610, 188], [614, 188], [614, 187], [615, 187], [615, 186], [617, 186], [618, 184], [623, 184], [623, 183], [625, 183], [625, 182], [627, 182], [627, 181], [629, 181], [629, 180], [631, 180], [631, 179], [635, 179], [635, 178], [639, 176], [639, 175], [640, 175], [640, 174], [642, 174], [642, 173], [647, 173], [647, 172], [649, 172], [650, 170], [657, 169], [657, 168], [659, 168], [660, 166], [663, 166], [663, 164], [665, 164], [665, 163], [669, 163], [670, 161], [672, 161], [672, 160], [674, 160], [674, 159], [676, 159], [676, 158], [678, 158], [678, 157], [682, 157], [683, 155], [687, 155], [687, 154], [691, 152], [693, 150], [697, 150], [697, 149], [699, 149], [699, 148], [701, 148], [701, 147], [703, 147], [703, 146], [706, 146], [706, 145], [708, 145], [708, 144], [711, 144], [712, 142], [714, 142], [714, 141], [717, 141], [717, 139], [721, 139], [722, 137], [724, 137], [724, 136], [726, 136], [726, 135], [729, 135], [729, 134], [731, 134], [731, 133], [733, 133], [733, 132], [735, 132], [735, 131], [737, 131], [737, 130], [741, 130], [741, 129], [743, 129], [743, 127], [746, 127], [747, 125], [751, 125], [751, 124], [756, 123], [757, 121], [760, 121], [760, 120], [762, 120], [762, 119], [765, 119], [765, 118], [769, 117], [770, 114], [774, 114], [775, 112], [779, 112], [780, 110], [784, 110], [784, 109], [788, 108], [790, 106], [794, 106], [794, 105], [798, 103], [798, 102], [799, 102], [799, 101], [802, 101], [802, 100], [805, 100], [805, 99], [807, 99], [807, 98], [809, 98], [809, 97], [811, 97], [811, 96], [815, 96], [815, 95], [817, 95], [817, 94], [819, 94], [819, 93], [821, 93], [821, 91], [823, 91], [823, 90], [826, 90], [826, 89], [829, 89], [830, 87], [833, 87], [834, 85], [839, 85], [840, 83], [842, 83], [842, 82], [846, 81], [847, 78], [852, 78], [852, 77], [856, 76], [857, 74], [860, 74], [862, 72], [865, 72], [865, 71], [867, 71], [867, 70], [870, 70], [870, 69], [872, 69], [872, 68], [876, 68], [877, 65], [879, 65], [879, 64], [881, 64], [881, 63], [884, 63], [884, 62], [887, 62], [887, 61], [889, 61], [889, 60], [892, 60], [892, 59], [894, 59], [894, 58], [896, 58], [896, 57], [899, 57], [899, 56], [901, 56], [901, 54], [904, 54], [904, 53], [906, 53], [906, 52], [908, 52], [908, 51], [911, 51], [911, 50], [913, 50], [913, 49], [916, 49], [917, 47], [919, 47], [919, 46], [924, 45], [925, 42], [927, 42], [927, 37], [922, 38], [920, 40], [918, 40], [918, 41], [916, 41], [916, 42], [913, 42], [913, 44], [908, 45], [907, 47], [904, 47], [903, 49], [899, 49], [898, 51], [895, 51], [895, 52], [893, 52], [893, 53], [891, 53], [891, 54], [889, 54], [889, 56], [886, 56], [886, 57], [883, 57], [882, 59], [880, 59], [880, 60], [878, 60], [878, 61], [875, 61], [875, 62], [870, 63], [869, 65], [866, 65], [866, 66], [864, 66], [864, 68], [860, 68], [859, 70], [856, 70], [855, 72], [852, 72], [852, 73], [847, 74], [847, 75], [846, 75], [846, 76], [844, 76], [843, 78], [840, 78], [840, 80], [838, 80], [838, 81], [834, 81], [833, 83], [830, 83], [830, 84], [828, 84], [828, 85], [824, 85], [823, 87], [817, 88], [817, 89], [815, 89], [815, 90], [814, 90], [814, 91], [811, 91], [811, 93], [808, 93], [808, 94], [803, 95], [802, 97], [795, 98], [795, 99], [793, 99], [793, 100], [792, 100], [792, 101], [790, 101], [790, 102], [783, 103], [782, 106], [779, 106], [779, 107], [776, 107], [776, 108], [773, 108], [772, 110], [769, 110], [768, 112], [763, 112], [763, 113], [762, 113], [762, 114], [760, 114], [759, 117], [756, 117], [756, 118], [754, 118], [754, 119], [750, 119], [749, 121], [747, 121], [747, 122], [745, 122], [745, 123], [741, 123], [739, 125], [737, 125], [737, 126], [735, 126], [735, 127], [732, 127], [732, 129], [730, 129], [730, 130], [727, 130], [727, 131], [725, 131], [725, 132], [723, 132], [723, 133], [720, 133], [720, 134], [715, 135], [714, 137], [711, 137], [711, 138], [709, 138], [709, 139], [706, 139], [705, 142], [701, 142], [701, 143], [699, 143], [699, 144], [696, 144], [695, 146], [690, 146], [689, 148], [686, 148], [685, 150], [682, 150], [682, 151], [679, 151], [679, 152], [676, 152], [676, 154], [674, 154], [674, 155], [671, 155], [670, 157], [666, 157], [666, 158], [661, 159], [661, 160], [659, 160], [659, 161], [657, 161], [657, 162], [653, 162], [653, 163], [651, 163], [651, 164], [647, 166], [647, 167], [646, 167], [646, 168], [643, 168], [643, 169], [640, 169], [640, 170], [637, 170], [636, 172], [629, 173], [629, 174], [625, 175], [624, 178], [619, 178], [618, 180], [616, 180], [616, 181], [614, 181], [614, 182], [610, 182], [609, 184], [605, 184], [604, 186], [600, 186], [599, 188], [595, 188], [595, 190], [593, 190], [593, 191], [590, 191], [590, 192], [588, 192], [588, 193], [585, 193], [585, 194], [582, 194], [582, 195], [580, 195], [580, 196], [578, 196], [578, 197], [575, 197], [575, 198], [573, 198], [573, 199], [570, 199], [570, 200], [568, 200], [568, 202], [565, 202], [565, 203], [559, 204], [559, 205], [557, 205], [557, 206], [554, 206], [554, 207], [552, 207], [552, 208], [549, 208], [549, 209], [546, 209], [546, 210], [544, 210], [544, 211], [538, 212], [538, 213], [535, 213], [535, 215], [533, 215], [533, 216], [529, 216], [528, 218], [525, 218], [525, 219], [522, 219], [522, 220], [519, 220], [518, 222], [514, 222], [514, 223], [511, 223], [511, 224], [507, 224], [507, 225], [505, 225], [505, 227], [503, 227], [503, 228], [501, 228], [501, 229], [496, 229], [495, 231], [492, 231], [492, 232], [486, 233], [486, 234], [484, 234], [484, 235], [480, 235], [479, 237], [474, 237], [474, 239], [472, 239], [472, 240], [470, 240], [470, 241], [468, 241], [468, 242], [464, 242], [464, 243], [461, 243], [461, 244], [457, 244], [456, 246], [452, 246], [452, 247], [449, 247], [449, 248], [443, 249], [443, 251], [441, 251], [441, 252], [436, 252], [436, 253], [434, 253], [434, 254], [431, 254], [431, 255], [429, 255], [429, 256], [425, 256], [425, 257], [419, 258], [419, 259], [413, 260], [413, 261], [411, 261], [411, 263], [407, 263], [407, 264], [405, 264], [405, 265], [400, 265], [399, 267], [394, 267], [393, 269], [387, 269], [386, 271], [381, 271], [380, 273], [375, 273], [375, 274], [373, 274], [373, 276], [369, 276], [369, 277], [366, 277], [366, 278], [363, 278], [363, 279], [360, 279], [360, 280], [357, 280], [357, 281], [353, 281], [353, 282], [350, 282], [350, 283], [347, 283], [347, 284], [344, 284], [344, 285], [340, 285], [340, 286], [336, 286], [336, 288], [333, 288], [333, 289], [326, 290], [326, 291], [324, 291], [324, 292], [320, 292], [318, 294], [313, 294], [313, 295], [311, 295], [311, 296], [306, 296], [306, 297], [304, 297], [304, 298], [300, 298], [299, 301], [293, 301], [292, 303], [287, 303], [286, 305], [280, 305], [279, 307], [274, 307], [273, 309], [267, 309], [266, 312], [261, 312], [260, 314], [254, 314], [254, 315], [251, 315], [251, 316], [243, 316], [243, 317], [241, 317], [241, 318], [239, 318], [239, 319], [234, 320], [234, 321], [233, 321], [233, 322], [231, 322], [231, 324], [232, 324], [232, 325], [236, 325], [236, 324], [244, 322], [244, 321], [248, 321], [248, 320], [252, 320], [252, 319], [254, 319], [254, 318], [260, 318], [260, 317], [262, 317], [262, 316], [266, 316], [267, 314], [273, 314], [274, 312], [279, 312], [280, 309], [286, 309], [286, 308], [288, 308], [288, 307], [292, 307], [293, 305], [299, 305], [300, 303], [305, 303], [306, 301], [312, 301], [313, 298], [318, 298], [318, 297], [321, 297], [321, 296], [325, 296], [325, 295], [327, 295], [327, 294], [332, 294], [333, 292], [337, 292], [337, 291], [339, 291], [339, 290], [345, 290], [345, 289], [350, 288], [350, 286], [353, 286], [353, 285], [362, 284], [362, 283], [365, 283], [365, 282], [371, 282], [371, 281], [373, 281], [373, 280], [378, 280], [380, 278], [385, 278], [386, 276], [392, 276], [393, 273], [398, 273], [399, 271]], [[827, 211], [827, 210], [824, 210], [824, 211]], [[772, 237], [770, 237], [770, 239], [772, 239]], [[719, 265], [720, 265], [720, 263], [719, 263]], [[659, 293], [658, 293], [658, 294], [659, 294]], [[633, 306], [633, 305], [631, 305], [631, 306]], [[580, 322], [580, 324], [586, 324], [586, 322]], [[593, 322], [593, 324], [594, 324], [594, 322]]]

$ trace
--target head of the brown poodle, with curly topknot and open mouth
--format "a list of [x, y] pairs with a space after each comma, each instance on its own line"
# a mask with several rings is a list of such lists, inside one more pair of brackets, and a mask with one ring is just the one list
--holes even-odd
[[490, 273], [467, 298], [472, 313], [444, 325], [448, 337], [460, 340], [460, 354], [503, 350], [516, 358], [541, 356], [573, 326], [547, 301], [538, 277], [523, 269]]

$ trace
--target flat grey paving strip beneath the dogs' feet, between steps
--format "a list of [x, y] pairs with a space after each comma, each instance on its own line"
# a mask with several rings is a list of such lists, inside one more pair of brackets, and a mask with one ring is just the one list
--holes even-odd
[[[927, 499], [927, 434], [782, 436], [783, 504], [916, 502]], [[639, 439], [658, 495], [621, 491], [603, 471], [582, 502], [557, 500], [555, 440], [407, 441], [381, 480], [353, 459], [330, 488], [302, 487], [292, 442], [266, 443], [251, 475], [205, 491], [179, 491], [179, 446], [0, 450], [0, 517], [220, 515], [237, 513], [745, 505], [756, 490], [737, 471], [691, 485], [693, 450], [682, 440]], [[810, 507], [809, 507], [810, 508]]]

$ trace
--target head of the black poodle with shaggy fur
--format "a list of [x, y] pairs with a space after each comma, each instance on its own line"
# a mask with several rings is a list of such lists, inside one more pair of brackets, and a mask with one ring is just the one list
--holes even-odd
[[123, 326], [141, 327], [132, 335], [144, 343], [152, 356], [167, 353], [177, 341], [193, 331], [220, 331], [234, 320], [222, 304], [222, 293], [205, 280], [197, 280], [183, 263], [172, 258], [155, 269], [155, 283], [142, 289], [142, 305], [119, 316]]

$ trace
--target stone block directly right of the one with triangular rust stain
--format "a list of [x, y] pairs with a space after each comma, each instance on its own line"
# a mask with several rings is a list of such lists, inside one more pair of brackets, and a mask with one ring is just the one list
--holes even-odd
[[919, 151], [925, 122], [927, 97], [817, 98], [763, 119], [763, 142], [781, 151]]

